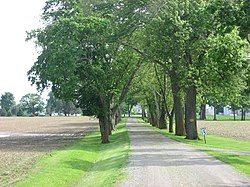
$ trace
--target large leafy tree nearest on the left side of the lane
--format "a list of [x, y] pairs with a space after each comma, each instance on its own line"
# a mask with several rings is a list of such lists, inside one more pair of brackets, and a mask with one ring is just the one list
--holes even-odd
[[29, 79], [41, 90], [52, 84], [56, 97], [76, 102], [84, 115], [96, 115], [102, 143], [108, 143], [111, 115], [124, 100], [141, 60], [116, 42], [120, 28], [112, 16], [86, 15], [81, 7], [77, 0], [47, 2], [46, 27], [29, 35], [42, 50]]

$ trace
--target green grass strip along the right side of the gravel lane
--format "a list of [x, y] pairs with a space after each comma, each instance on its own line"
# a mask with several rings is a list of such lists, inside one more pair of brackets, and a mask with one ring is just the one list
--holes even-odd
[[204, 144], [203, 140], [187, 140], [184, 136], [175, 136], [172, 133], [168, 133], [165, 129], [158, 129], [152, 127], [149, 123], [144, 122], [142, 119], [138, 119], [143, 125], [152, 128], [154, 131], [157, 131], [164, 136], [171, 138], [173, 140], [190, 144], [205, 150], [209, 155], [214, 156], [215, 158], [225, 162], [229, 165], [232, 165], [240, 172], [243, 172], [250, 176], [250, 155], [240, 155], [240, 154], [229, 154], [223, 151], [210, 150], [212, 148], [226, 149], [226, 150], [235, 150], [237, 151], [250, 151], [250, 141], [235, 140], [231, 138], [224, 138], [215, 135], [207, 136], [207, 144]]

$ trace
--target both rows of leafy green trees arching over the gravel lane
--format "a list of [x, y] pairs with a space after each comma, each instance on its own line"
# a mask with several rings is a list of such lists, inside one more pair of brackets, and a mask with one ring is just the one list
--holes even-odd
[[40, 50], [29, 79], [96, 115], [103, 143], [131, 86], [152, 124], [175, 116], [188, 139], [197, 99], [248, 98], [249, 1], [48, 0], [42, 18], [28, 34]]

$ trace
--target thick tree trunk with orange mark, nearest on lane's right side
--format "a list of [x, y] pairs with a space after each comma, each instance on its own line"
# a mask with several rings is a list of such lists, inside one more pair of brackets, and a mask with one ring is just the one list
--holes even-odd
[[197, 140], [197, 120], [196, 120], [196, 88], [189, 86], [186, 93], [186, 111], [185, 111], [186, 138]]

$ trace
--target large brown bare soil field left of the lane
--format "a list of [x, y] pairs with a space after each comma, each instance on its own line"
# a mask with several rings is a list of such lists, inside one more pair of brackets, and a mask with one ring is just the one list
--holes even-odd
[[97, 127], [89, 117], [0, 117], [0, 186], [12, 186], [38, 158]]

